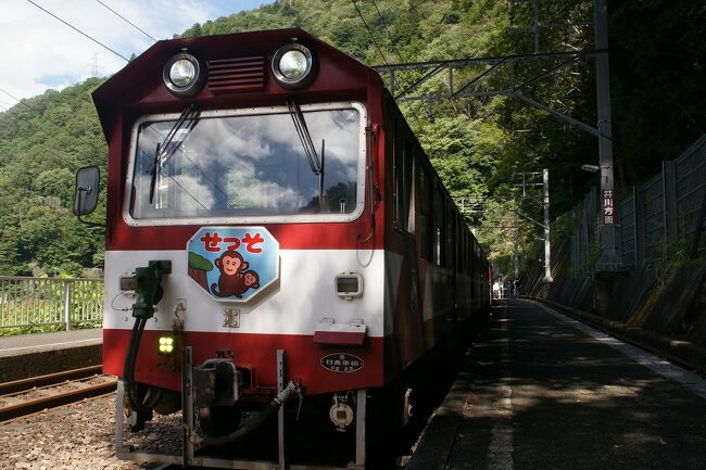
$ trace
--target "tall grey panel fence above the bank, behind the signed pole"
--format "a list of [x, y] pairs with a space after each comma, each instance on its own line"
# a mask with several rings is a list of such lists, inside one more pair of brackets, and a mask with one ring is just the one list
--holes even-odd
[[[618, 211], [618, 237], [628, 269], [654, 265], [660, 256], [688, 250], [698, 227], [706, 192], [706, 135], [678, 158], [663, 162], [661, 173], [632, 188]], [[571, 237], [571, 274], [585, 276], [598, 253], [597, 193], [587, 193], [568, 216], [575, 220]], [[697, 246], [706, 255], [706, 236]]]

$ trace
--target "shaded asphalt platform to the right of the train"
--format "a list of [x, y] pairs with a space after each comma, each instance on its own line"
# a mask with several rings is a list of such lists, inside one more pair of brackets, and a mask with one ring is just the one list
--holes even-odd
[[550, 307], [493, 309], [405, 470], [706, 468], [706, 380]]

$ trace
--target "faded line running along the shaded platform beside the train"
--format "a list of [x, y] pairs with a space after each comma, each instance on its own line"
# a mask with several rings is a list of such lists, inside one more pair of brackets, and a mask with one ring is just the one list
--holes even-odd
[[513, 434], [513, 389], [508, 370], [509, 363], [509, 339], [507, 338], [507, 307], [505, 318], [501, 319], [502, 348], [500, 354], [501, 385], [499, 392], [497, 415], [499, 419], [493, 424], [488, 446], [488, 469], [489, 470], [513, 470], [515, 462], [513, 452], [515, 437]]

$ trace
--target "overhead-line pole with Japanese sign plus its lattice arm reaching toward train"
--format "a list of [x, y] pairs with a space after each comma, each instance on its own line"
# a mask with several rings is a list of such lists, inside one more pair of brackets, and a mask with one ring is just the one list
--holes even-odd
[[[514, 15], [515, 3], [519, 0], [508, 0], [510, 22]], [[617, 225], [619, 224], [617, 207], [616, 207], [616, 192], [614, 182], [614, 167], [613, 167], [613, 136], [612, 136], [612, 118], [610, 118], [610, 80], [608, 67], [608, 15], [607, 15], [607, 0], [593, 0], [593, 25], [594, 25], [594, 43], [595, 50], [593, 51], [564, 51], [564, 52], [539, 52], [539, 1], [538, 0], [522, 0], [524, 2], [531, 2], [533, 7], [533, 25], [527, 27], [510, 27], [515, 30], [532, 31], [534, 36], [534, 53], [527, 55], [504, 55], [495, 58], [470, 58], [458, 59], [450, 61], [431, 61], [413, 64], [386, 64], [379, 65], [375, 68], [381, 74], [389, 74], [389, 84], [392, 96], [396, 101], [430, 101], [442, 99], [458, 99], [471, 97], [491, 97], [491, 96], [506, 96], [516, 98], [525, 103], [534, 107], [543, 110], [552, 116], [570, 124], [598, 139], [598, 163], [601, 168], [601, 201], [602, 213], [600, 220], [601, 229], [601, 253], [598, 262], [596, 263], [596, 272], [610, 272], [619, 271], [622, 269], [622, 255], [620, 253], [620, 245], [618, 241]], [[590, 23], [576, 23], [572, 25], [545, 25], [552, 27], [567, 27], [567, 26], [584, 26]], [[545, 104], [542, 104], [522, 92], [522, 89], [529, 85], [541, 80], [560, 69], [569, 67], [580, 58], [593, 55], [595, 56], [595, 77], [596, 77], [596, 101], [597, 101], [597, 126], [593, 127], [587, 123], [576, 119], [569, 115], [560, 113]], [[540, 73], [533, 78], [528, 79], [522, 84], [515, 82], [514, 67], [525, 62], [534, 63], [537, 61], [562, 61], [554, 67]], [[465, 80], [464, 85], [458, 86], [457, 81], [453, 78], [454, 69], [486, 66], [480, 73], [477, 73], [470, 80]], [[497, 76], [501, 71], [507, 72], [509, 69], [509, 82], [504, 86], [487, 86], [482, 87], [481, 84], [490, 76]], [[395, 90], [395, 73], [401, 74], [404, 72], [423, 73], [421, 78], [417, 78], [412, 85], [405, 87], [402, 91]], [[419, 87], [431, 80], [433, 77], [446, 72], [449, 74], [446, 80], [447, 91], [437, 92], [433, 94], [413, 92], [418, 90]], [[546, 224], [544, 224], [546, 225]]]

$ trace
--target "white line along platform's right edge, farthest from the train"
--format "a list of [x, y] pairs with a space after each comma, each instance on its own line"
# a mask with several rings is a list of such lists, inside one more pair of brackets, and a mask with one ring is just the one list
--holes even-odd
[[692, 373], [685, 369], [682, 369], [679, 366], [676, 366], [671, 363], [660, 359], [659, 357], [651, 354], [644, 350], [641, 350], [631, 344], [623, 343], [622, 341], [609, 336], [608, 334], [595, 330], [587, 325], [581, 323], [578, 320], [567, 317], [566, 315], [559, 314], [558, 312], [542, 306], [544, 312], [555, 316], [556, 318], [569, 323], [579, 331], [582, 331], [590, 336], [598, 340], [600, 342], [607, 344], [616, 351], [619, 351], [627, 357], [633, 359], [634, 361], [645, 366], [646, 368], [657, 372], [661, 377], [672, 380], [677, 383], [684, 385], [686, 389], [691, 390], [696, 395], [702, 398], [706, 398], [706, 380], [701, 377]]

